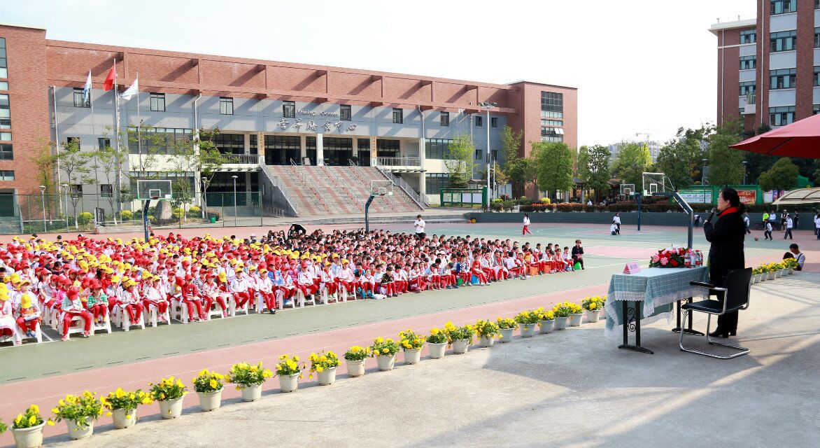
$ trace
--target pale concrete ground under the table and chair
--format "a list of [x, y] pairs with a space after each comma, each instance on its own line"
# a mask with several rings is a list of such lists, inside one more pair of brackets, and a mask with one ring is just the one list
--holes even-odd
[[189, 395], [181, 418], [98, 427], [69, 446], [818, 446], [818, 286], [815, 273], [754, 286], [738, 337], [751, 354], [739, 359], [681, 352], [666, 322], [643, 332], [654, 355], [585, 323], [360, 378], [343, 366], [334, 385], [210, 413]]

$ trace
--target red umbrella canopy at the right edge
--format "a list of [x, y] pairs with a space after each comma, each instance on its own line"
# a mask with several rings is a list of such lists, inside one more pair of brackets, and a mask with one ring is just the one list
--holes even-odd
[[731, 147], [772, 156], [820, 158], [820, 115], [756, 135]]

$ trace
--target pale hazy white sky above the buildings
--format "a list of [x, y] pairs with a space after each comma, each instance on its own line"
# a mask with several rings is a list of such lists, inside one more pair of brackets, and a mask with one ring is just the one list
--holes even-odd
[[[579, 144], [715, 120], [717, 38], [755, 0], [0, 0], [48, 39], [579, 89]], [[581, 8], [579, 8], [581, 7]], [[644, 139], [644, 135], [641, 135]]]

